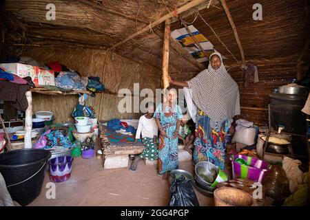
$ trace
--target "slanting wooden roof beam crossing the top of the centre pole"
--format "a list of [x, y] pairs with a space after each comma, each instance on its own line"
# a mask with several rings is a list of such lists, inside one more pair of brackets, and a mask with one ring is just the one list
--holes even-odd
[[[181, 6], [180, 8], [176, 9], [176, 13], [177, 14], [181, 14], [182, 12], [186, 12], [187, 10], [194, 8], [195, 6], [199, 5], [200, 3], [203, 3], [207, 0], [193, 0], [190, 1], [189, 3], [187, 3], [186, 5]], [[160, 23], [163, 23], [163, 21], [166, 21], [167, 19], [170, 19], [174, 16], [174, 14], [171, 12], [169, 14], [165, 14], [163, 17], [161, 17], [160, 19], [153, 21], [152, 23], [150, 23], [149, 25], [145, 26], [145, 28], [139, 30], [138, 32], [127, 36], [127, 38], [125, 38], [123, 41], [116, 43], [115, 45], [113, 45], [112, 47], [110, 47], [110, 50], [113, 50], [114, 48], [118, 47], [119, 45], [122, 45], [123, 43], [126, 43], [127, 41], [130, 41], [131, 39], [133, 39], [134, 37], [143, 34], [144, 32], [147, 32], [148, 30], [150, 30], [151, 28], [154, 28], [156, 25], [159, 25]]]

